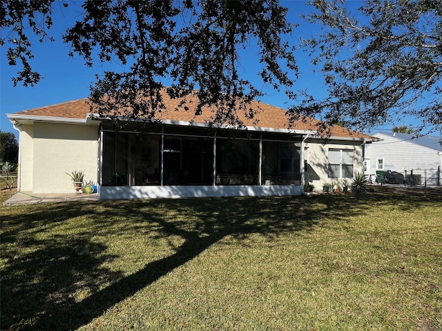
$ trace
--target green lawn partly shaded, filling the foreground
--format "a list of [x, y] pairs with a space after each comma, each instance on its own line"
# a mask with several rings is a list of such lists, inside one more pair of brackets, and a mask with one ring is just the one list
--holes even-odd
[[2, 330], [442, 330], [442, 190], [0, 208]]

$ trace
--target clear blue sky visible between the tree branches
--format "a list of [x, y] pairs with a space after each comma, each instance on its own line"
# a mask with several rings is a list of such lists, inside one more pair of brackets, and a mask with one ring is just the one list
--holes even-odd
[[[11, 77], [14, 77], [21, 68], [8, 66], [6, 47], [1, 48], [0, 130], [17, 134], [6, 114], [88, 97], [89, 86], [94, 81], [95, 74], [100, 74], [104, 70], [117, 66], [115, 63], [104, 66], [97, 62], [93, 68], [89, 68], [80, 57], [68, 57], [69, 46], [63, 43], [61, 35], [66, 31], [66, 28], [73, 25], [75, 18], [78, 17], [79, 10], [81, 10], [79, 7], [81, 1], [69, 1], [69, 3], [70, 6], [67, 9], [62, 8], [61, 4], [57, 3], [57, 1], [53, 7], [52, 18], [54, 24], [49, 30], [49, 34], [55, 38], [55, 42], [34, 43], [33, 52], [35, 59], [32, 59], [31, 66], [44, 77], [37, 86], [28, 88], [13, 86]], [[305, 5], [305, 1], [283, 1], [283, 4], [289, 8], [289, 20], [294, 23], [300, 23], [300, 26], [294, 30], [291, 36], [292, 42], [295, 45], [298, 44], [299, 37], [309, 37], [319, 32], [318, 26], [313, 26], [300, 18], [300, 14], [311, 12], [311, 8]], [[361, 4], [359, 1], [352, 2], [355, 8], [359, 4]], [[256, 86], [260, 88], [262, 82], [256, 77], [256, 66], [258, 65], [255, 57], [256, 52], [253, 51], [253, 48], [250, 48], [245, 54], [246, 57], [241, 61], [244, 77], [247, 77], [252, 82], [256, 81]], [[324, 97], [326, 91], [322, 77], [320, 74], [313, 74], [311, 72], [307, 53], [300, 50], [296, 54], [296, 59], [301, 75], [294, 89], [304, 90], [307, 88], [316, 97]], [[291, 104], [283, 92], [276, 92], [271, 87], [264, 88], [263, 90], [267, 93], [267, 96], [263, 97], [261, 101], [281, 108], [287, 108]], [[398, 123], [398, 125], [403, 124], [409, 123]]]

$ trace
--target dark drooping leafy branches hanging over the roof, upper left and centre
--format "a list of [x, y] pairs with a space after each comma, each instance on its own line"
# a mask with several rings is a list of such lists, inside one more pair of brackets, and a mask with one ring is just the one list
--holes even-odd
[[[23, 66], [15, 83], [32, 86], [41, 79], [29, 64], [32, 45], [26, 27], [47, 38], [53, 2], [2, 1], [1, 28], [13, 33], [2, 36], [1, 43], [10, 47], [10, 64]], [[204, 106], [215, 107], [214, 122], [241, 126], [233, 109], [253, 117], [249, 101], [262, 94], [262, 83], [257, 88], [238, 73], [239, 52], [251, 43], [259, 48], [264, 83], [275, 88], [294, 83], [287, 73], [297, 70], [293, 49], [281, 39], [293, 26], [279, 1], [93, 0], [84, 1], [82, 8], [64, 34], [70, 55], [81, 55], [88, 66], [117, 61], [124, 68], [97, 74], [90, 99], [101, 114], [155, 119], [164, 108], [163, 81], [169, 80], [173, 83], [167, 92], [182, 98], [182, 106], [191, 102], [195, 90], [195, 114]]]

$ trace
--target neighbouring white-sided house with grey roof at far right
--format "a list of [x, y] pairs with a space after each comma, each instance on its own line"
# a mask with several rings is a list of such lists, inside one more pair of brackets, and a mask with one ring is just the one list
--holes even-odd
[[[414, 185], [442, 185], [441, 137], [378, 132], [380, 141], [365, 144], [365, 174], [376, 178], [376, 170], [398, 172], [405, 183]], [[411, 177], [413, 175], [413, 177]]]

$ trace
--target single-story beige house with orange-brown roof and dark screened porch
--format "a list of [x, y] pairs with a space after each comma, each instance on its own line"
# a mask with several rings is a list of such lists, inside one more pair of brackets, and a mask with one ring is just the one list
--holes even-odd
[[334, 126], [325, 140], [314, 119], [289, 129], [286, 110], [258, 101], [246, 129], [213, 128], [212, 110], [195, 116], [163, 97], [160, 122], [121, 119], [121, 130], [87, 99], [7, 114], [19, 130], [18, 190], [75, 192], [66, 172], [84, 170], [100, 199], [296, 195], [306, 178], [322, 190], [362, 172], [374, 139]]

